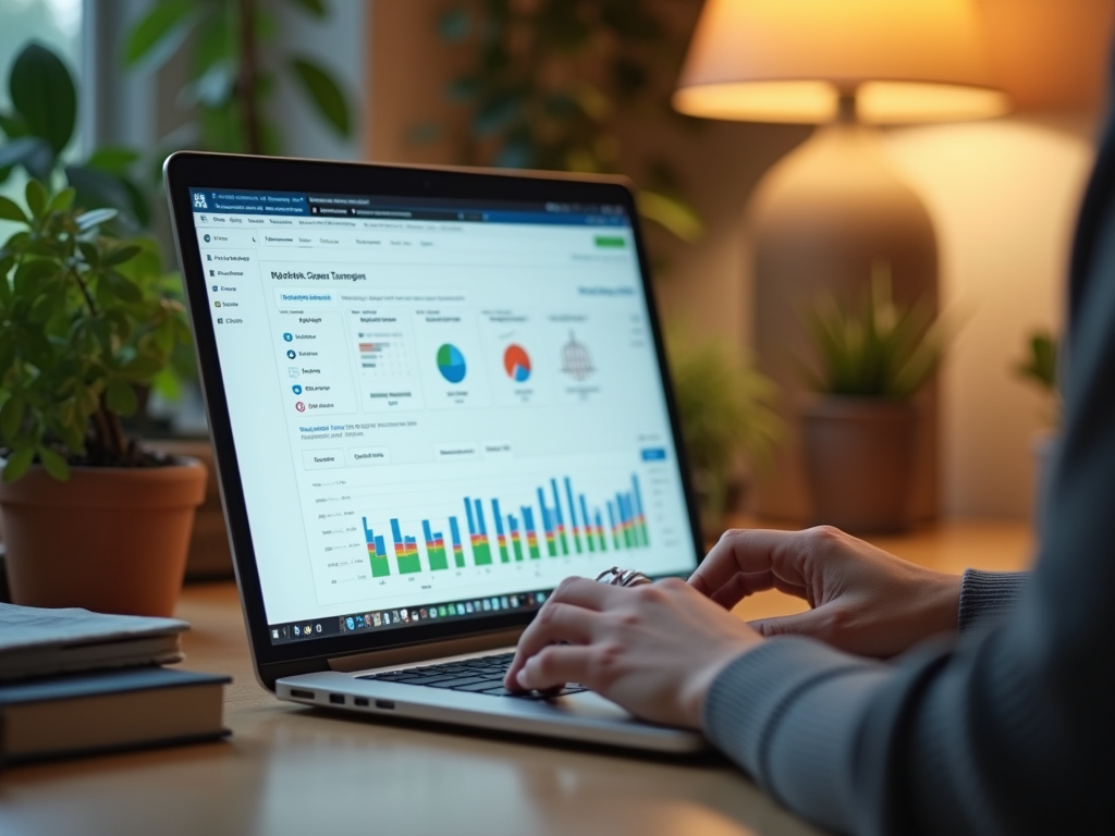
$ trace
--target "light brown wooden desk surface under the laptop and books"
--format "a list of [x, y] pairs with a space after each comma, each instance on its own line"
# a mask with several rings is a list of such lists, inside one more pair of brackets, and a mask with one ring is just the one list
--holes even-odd
[[[946, 571], [1028, 563], [1017, 523], [949, 524], [883, 547]], [[777, 593], [758, 618], [803, 605]], [[234, 678], [221, 743], [12, 769], [0, 835], [813, 834], [710, 756], [676, 762], [401, 728], [283, 704], [252, 672], [235, 587], [187, 587], [186, 668]]]

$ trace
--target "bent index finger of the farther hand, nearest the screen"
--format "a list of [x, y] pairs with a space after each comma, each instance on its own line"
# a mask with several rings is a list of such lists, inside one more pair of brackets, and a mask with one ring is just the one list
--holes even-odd
[[689, 577], [689, 584], [714, 597], [739, 573], [774, 572], [792, 585], [804, 586], [807, 550], [802, 534], [760, 528], [727, 532]]

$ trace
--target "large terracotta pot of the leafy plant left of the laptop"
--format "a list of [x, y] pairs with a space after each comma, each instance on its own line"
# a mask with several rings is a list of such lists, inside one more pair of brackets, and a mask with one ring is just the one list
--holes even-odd
[[205, 498], [205, 466], [180, 461], [75, 467], [66, 483], [35, 467], [12, 484], [0, 482], [12, 601], [171, 615], [194, 509]]

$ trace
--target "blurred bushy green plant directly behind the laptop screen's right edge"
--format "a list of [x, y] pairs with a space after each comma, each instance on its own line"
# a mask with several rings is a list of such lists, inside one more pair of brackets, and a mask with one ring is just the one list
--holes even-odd
[[701, 532], [715, 539], [726, 512], [741, 504], [748, 472], [769, 459], [782, 437], [777, 388], [721, 341], [697, 341], [675, 328], [667, 349]]

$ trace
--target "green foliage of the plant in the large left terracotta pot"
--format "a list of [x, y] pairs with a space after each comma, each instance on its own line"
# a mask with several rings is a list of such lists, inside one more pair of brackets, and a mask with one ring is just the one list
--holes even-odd
[[0, 448], [12, 482], [36, 461], [57, 479], [70, 465], [161, 464], [120, 418], [137, 389], [168, 373], [188, 343], [176, 281], [149, 239], [117, 239], [115, 210], [86, 212], [76, 192], [28, 182], [27, 208], [0, 197], [18, 225], [0, 249]]

